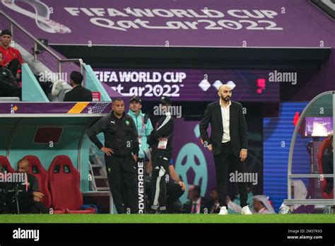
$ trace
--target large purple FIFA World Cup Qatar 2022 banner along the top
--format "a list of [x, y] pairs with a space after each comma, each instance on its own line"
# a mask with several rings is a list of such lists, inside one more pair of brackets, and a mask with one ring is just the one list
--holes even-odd
[[307, 0], [1, 0], [1, 11], [51, 45], [331, 47], [335, 37]]

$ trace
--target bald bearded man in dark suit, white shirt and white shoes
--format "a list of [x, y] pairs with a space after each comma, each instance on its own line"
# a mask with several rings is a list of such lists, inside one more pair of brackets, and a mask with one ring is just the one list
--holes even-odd
[[[213, 153], [216, 168], [216, 187], [221, 215], [227, 211], [228, 167], [237, 172], [245, 172], [244, 160], [247, 158], [247, 123], [239, 102], [230, 101], [232, 89], [222, 85], [218, 89], [219, 101], [207, 105], [200, 123], [201, 139], [204, 146]], [[211, 137], [207, 128], [211, 123]], [[238, 182], [242, 214], [252, 214], [247, 205], [247, 184]]]

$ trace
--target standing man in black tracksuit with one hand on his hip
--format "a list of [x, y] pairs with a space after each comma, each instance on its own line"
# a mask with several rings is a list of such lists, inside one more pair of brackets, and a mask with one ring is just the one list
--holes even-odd
[[[105, 134], [105, 146], [97, 134]], [[127, 203], [131, 213], [138, 213], [136, 160], [139, 156], [139, 137], [134, 120], [124, 112], [124, 101], [120, 98], [112, 102], [110, 115], [102, 117], [88, 130], [90, 141], [105, 153], [105, 165], [110, 191], [117, 213], [124, 213], [122, 184], [126, 187]]]

